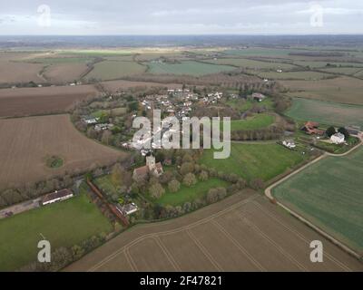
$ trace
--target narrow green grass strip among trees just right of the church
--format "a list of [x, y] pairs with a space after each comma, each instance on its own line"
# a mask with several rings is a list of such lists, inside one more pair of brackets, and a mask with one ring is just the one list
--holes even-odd
[[156, 202], [162, 206], [182, 206], [184, 202], [191, 202], [197, 198], [203, 198], [209, 189], [226, 188], [228, 185], [229, 183], [227, 181], [221, 179], [211, 178], [206, 181], [199, 180], [197, 184], [190, 188], [181, 185], [181, 189], [178, 192], [170, 192], [169, 189], [166, 189], [162, 198], [159, 198]]

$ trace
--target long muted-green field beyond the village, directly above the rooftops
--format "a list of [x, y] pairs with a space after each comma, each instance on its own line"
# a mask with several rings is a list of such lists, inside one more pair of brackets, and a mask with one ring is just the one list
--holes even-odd
[[189, 74], [200, 76], [211, 73], [233, 71], [236, 68], [231, 65], [215, 65], [209, 63], [198, 63], [186, 61], [182, 63], [155, 63], [148, 64], [148, 73], [165, 74]]

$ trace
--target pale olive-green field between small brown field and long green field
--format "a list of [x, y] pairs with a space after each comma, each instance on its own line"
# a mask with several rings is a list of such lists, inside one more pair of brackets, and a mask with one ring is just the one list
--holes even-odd
[[96, 63], [93, 70], [84, 76], [85, 79], [116, 80], [133, 74], [143, 73], [146, 66], [134, 62], [105, 61]]

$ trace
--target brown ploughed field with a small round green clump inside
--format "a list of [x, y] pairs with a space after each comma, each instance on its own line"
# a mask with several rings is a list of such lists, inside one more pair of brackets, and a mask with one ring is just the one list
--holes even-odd
[[[126, 154], [87, 139], [66, 114], [0, 120], [0, 136], [0, 189], [106, 165]], [[47, 168], [52, 155], [64, 166]]]

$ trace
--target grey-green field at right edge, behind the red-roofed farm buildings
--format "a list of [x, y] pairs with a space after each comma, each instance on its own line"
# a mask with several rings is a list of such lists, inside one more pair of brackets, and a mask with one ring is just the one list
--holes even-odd
[[285, 114], [299, 121], [318, 121], [336, 126], [358, 125], [363, 128], [363, 105], [295, 98]]

